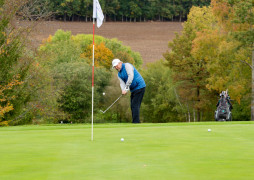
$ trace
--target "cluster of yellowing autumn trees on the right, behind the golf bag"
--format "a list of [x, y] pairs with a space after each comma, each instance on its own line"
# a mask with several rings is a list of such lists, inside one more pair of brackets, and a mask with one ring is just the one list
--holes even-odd
[[254, 120], [252, 10], [251, 0], [212, 0], [209, 7], [192, 7], [183, 32], [169, 43], [166, 64], [175, 72], [182, 104], [198, 121], [209, 111], [213, 116], [216, 96], [226, 89], [234, 100], [233, 118]]

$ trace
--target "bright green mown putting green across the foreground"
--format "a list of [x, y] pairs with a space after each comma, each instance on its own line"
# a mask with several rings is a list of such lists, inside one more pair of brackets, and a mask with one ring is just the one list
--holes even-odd
[[254, 179], [254, 122], [2, 127], [0, 147], [1, 180]]

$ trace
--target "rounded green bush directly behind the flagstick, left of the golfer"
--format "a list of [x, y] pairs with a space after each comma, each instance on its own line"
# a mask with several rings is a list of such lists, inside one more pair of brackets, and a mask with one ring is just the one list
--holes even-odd
[[[92, 70], [86, 63], [62, 63], [56, 68], [58, 81], [64, 81], [58, 98], [59, 107], [70, 114], [69, 121], [85, 122], [91, 112]], [[110, 73], [103, 68], [95, 68], [95, 107], [102, 99], [102, 92], [108, 85]], [[98, 109], [96, 109], [98, 111]]]

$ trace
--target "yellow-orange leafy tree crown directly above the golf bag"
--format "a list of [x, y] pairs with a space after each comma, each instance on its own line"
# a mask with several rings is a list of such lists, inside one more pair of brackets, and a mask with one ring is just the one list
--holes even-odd
[[238, 103], [246, 93], [249, 79], [248, 67], [237, 60], [243, 52], [237, 50], [236, 41], [228, 41], [226, 34], [219, 30], [197, 33], [193, 41], [192, 55], [206, 63], [209, 73], [207, 89], [221, 92], [228, 89], [231, 98]]

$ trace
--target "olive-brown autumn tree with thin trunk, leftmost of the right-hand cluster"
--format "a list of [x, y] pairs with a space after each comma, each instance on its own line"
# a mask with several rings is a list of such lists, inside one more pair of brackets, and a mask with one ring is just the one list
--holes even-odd
[[206, 78], [209, 73], [206, 61], [192, 55], [193, 40], [197, 32], [214, 28], [215, 19], [209, 7], [193, 7], [184, 23], [182, 35], [176, 34], [173, 42], [169, 43], [171, 52], [164, 54], [167, 65], [174, 71], [174, 78], [180, 83], [179, 95], [183, 97], [186, 106], [193, 106], [200, 121], [201, 111], [207, 109], [211, 102], [206, 90]]

